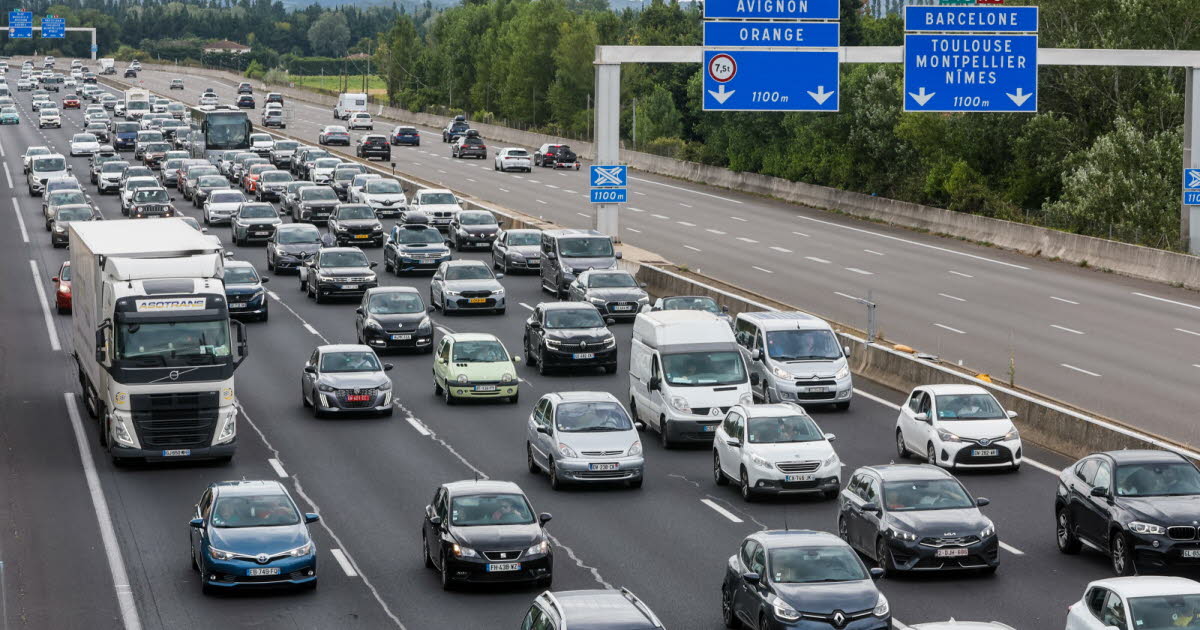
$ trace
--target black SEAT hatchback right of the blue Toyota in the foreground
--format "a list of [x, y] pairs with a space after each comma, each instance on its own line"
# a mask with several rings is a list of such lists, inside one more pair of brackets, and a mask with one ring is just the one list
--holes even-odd
[[511, 481], [454, 481], [438, 487], [425, 506], [421, 556], [442, 575], [442, 588], [455, 583], [533, 582], [548, 588], [554, 556], [545, 526], [529, 499]]

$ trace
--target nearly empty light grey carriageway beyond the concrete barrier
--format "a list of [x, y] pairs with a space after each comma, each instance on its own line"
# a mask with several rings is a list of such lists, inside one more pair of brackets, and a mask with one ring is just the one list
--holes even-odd
[[[139, 80], [167, 94], [169, 79], [184, 76], [191, 104], [208, 86], [233, 102], [235, 84], [179, 72], [148, 71]], [[287, 133], [308, 142], [335, 122], [324, 107], [292, 107]], [[376, 132], [392, 125], [378, 120]], [[563, 226], [595, 223], [586, 170], [499, 174], [490, 161], [450, 160], [439, 130], [421, 132], [420, 148], [394, 148], [398, 170]], [[736, 191], [632, 179], [625, 242], [858, 328], [866, 313], [852, 298], [872, 290], [893, 341], [1004, 380], [1012, 358], [1018, 384], [1200, 445], [1190, 419], [1200, 406], [1200, 299], [1192, 292]]]

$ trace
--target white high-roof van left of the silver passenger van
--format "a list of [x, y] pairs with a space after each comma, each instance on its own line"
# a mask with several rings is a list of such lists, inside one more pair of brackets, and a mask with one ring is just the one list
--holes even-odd
[[638, 313], [629, 352], [629, 410], [664, 448], [712, 442], [730, 407], [754, 402], [730, 325], [702, 311]]

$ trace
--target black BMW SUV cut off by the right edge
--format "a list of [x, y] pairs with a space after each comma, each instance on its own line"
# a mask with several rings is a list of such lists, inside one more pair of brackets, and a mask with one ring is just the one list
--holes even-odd
[[1108, 552], [1117, 575], [1200, 566], [1200, 472], [1156, 450], [1090, 455], [1063, 468], [1055, 494], [1058, 551]]

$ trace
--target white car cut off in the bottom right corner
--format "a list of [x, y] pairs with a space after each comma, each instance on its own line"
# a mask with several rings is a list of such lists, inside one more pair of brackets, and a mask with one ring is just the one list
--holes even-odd
[[1097, 580], [1067, 608], [1067, 630], [1175, 630], [1200, 624], [1200, 583], [1139, 575]]

